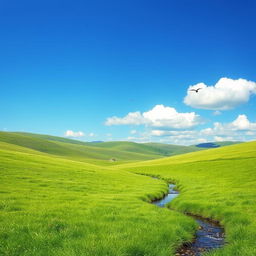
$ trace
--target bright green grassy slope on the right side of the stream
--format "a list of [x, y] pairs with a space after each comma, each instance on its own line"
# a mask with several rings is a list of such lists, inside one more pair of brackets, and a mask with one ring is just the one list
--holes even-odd
[[176, 182], [181, 194], [170, 207], [220, 220], [228, 244], [210, 255], [256, 255], [256, 142], [122, 168]]

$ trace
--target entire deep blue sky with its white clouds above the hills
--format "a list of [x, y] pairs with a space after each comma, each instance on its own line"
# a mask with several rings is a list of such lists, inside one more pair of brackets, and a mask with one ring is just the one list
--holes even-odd
[[175, 144], [255, 139], [255, 9], [2, 1], [0, 129]]

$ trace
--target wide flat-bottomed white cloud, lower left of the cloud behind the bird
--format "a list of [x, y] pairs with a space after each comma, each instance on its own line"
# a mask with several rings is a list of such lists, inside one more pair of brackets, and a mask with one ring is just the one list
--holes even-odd
[[195, 112], [179, 113], [175, 108], [156, 105], [153, 109], [141, 113], [131, 112], [125, 117], [110, 117], [106, 125], [146, 125], [158, 128], [188, 129], [201, 124], [202, 120]]

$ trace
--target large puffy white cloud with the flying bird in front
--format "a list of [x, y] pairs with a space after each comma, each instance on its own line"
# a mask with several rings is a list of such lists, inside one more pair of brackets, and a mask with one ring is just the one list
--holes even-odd
[[[198, 93], [191, 89], [202, 88]], [[256, 94], [256, 83], [245, 79], [221, 78], [214, 86], [189, 86], [184, 103], [199, 109], [228, 110], [248, 102]]]

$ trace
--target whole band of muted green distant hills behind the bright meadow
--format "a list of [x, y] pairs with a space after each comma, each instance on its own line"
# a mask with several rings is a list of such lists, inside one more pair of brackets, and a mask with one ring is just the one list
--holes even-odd
[[[202, 150], [195, 146], [161, 143], [83, 142], [57, 136], [22, 132], [0, 132], [0, 142], [19, 146], [20, 151], [29, 149], [77, 161], [103, 161], [103, 163], [108, 162], [108, 164], [152, 160]], [[116, 161], [111, 161], [111, 159], [116, 159]]]

